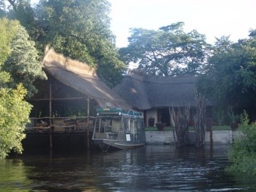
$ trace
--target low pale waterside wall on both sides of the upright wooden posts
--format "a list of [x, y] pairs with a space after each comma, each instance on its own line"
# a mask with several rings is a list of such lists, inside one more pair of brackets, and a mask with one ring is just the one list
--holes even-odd
[[[168, 145], [174, 144], [173, 131], [146, 131], [147, 145]], [[210, 145], [212, 142], [216, 145], [231, 144], [234, 137], [239, 134], [239, 131], [206, 131], [205, 144]]]

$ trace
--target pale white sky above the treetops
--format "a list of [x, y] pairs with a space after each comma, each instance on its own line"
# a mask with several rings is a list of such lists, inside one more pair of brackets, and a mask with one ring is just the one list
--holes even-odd
[[117, 47], [127, 46], [130, 29], [157, 30], [184, 22], [184, 30], [197, 30], [213, 44], [215, 37], [230, 35], [236, 42], [256, 29], [255, 0], [109, 0], [111, 30]]

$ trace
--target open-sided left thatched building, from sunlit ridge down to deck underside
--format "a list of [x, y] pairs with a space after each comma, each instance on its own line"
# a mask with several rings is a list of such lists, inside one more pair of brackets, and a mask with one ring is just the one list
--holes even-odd
[[42, 65], [48, 79], [34, 83], [38, 93], [29, 99], [25, 149], [89, 148], [98, 107], [131, 109], [86, 63], [46, 49]]

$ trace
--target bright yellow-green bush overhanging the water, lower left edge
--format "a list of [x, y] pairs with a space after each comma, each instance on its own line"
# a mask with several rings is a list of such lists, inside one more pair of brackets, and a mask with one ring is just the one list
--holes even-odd
[[0, 88], [0, 157], [6, 157], [12, 149], [22, 152], [21, 141], [31, 110], [31, 105], [23, 101], [25, 95], [21, 84], [17, 89]]

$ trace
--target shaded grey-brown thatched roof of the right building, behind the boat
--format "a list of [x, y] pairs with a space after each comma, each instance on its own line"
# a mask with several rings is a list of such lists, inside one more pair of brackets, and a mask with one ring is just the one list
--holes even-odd
[[114, 91], [139, 110], [180, 105], [195, 106], [196, 80], [196, 77], [191, 75], [155, 77], [133, 70], [114, 87]]

